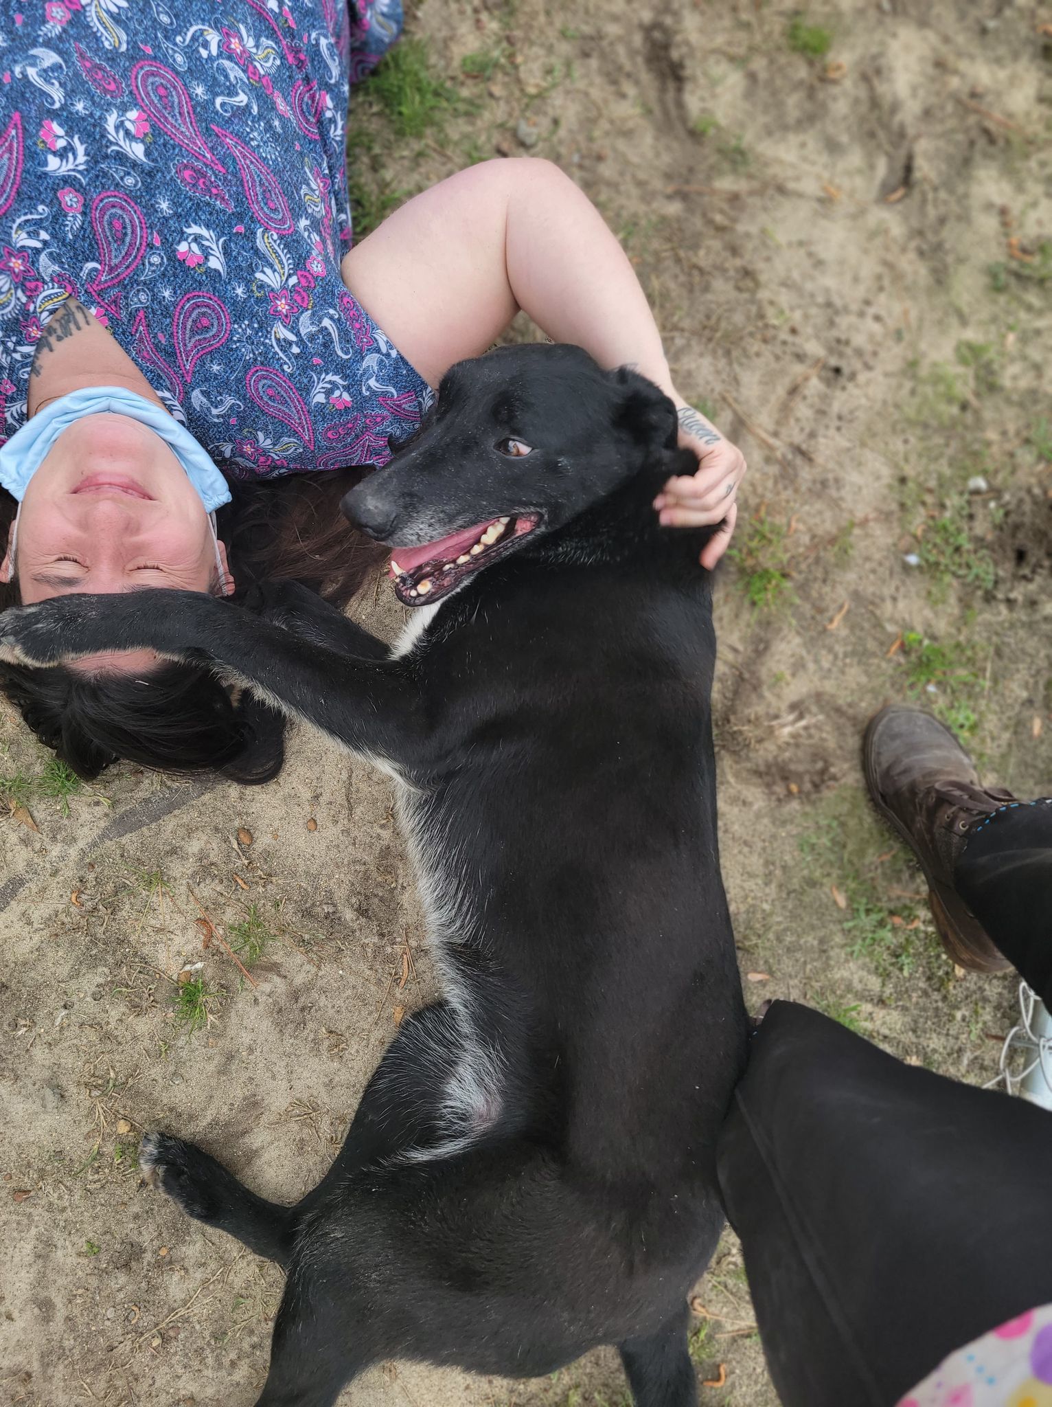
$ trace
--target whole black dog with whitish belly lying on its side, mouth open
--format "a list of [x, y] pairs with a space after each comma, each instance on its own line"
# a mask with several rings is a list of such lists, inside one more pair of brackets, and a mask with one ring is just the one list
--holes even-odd
[[397, 591], [437, 606], [394, 653], [288, 585], [269, 619], [181, 591], [0, 616], [21, 663], [211, 660], [398, 778], [446, 999], [404, 1021], [328, 1176], [276, 1206], [191, 1144], [143, 1141], [186, 1211], [288, 1271], [260, 1407], [335, 1403], [385, 1358], [533, 1376], [598, 1344], [640, 1407], [696, 1401], [685, 1299], [723, 1221], [747, 1023], [706, 533], [651, 508], [696, 467], [675, 426], [655, 387], [575, 348], [454, 367], [345, 502], [413, 545]]

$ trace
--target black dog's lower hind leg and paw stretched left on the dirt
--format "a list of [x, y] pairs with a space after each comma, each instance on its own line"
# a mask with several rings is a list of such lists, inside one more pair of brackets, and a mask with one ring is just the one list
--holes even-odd
[[139, 1166], [191, 1217], [229, 1231], [256, 1255], [284, 1265], [291, 1251], [293, 1209], [249, 1192], [221, 1162], [169, 1134], [146, 1134]]

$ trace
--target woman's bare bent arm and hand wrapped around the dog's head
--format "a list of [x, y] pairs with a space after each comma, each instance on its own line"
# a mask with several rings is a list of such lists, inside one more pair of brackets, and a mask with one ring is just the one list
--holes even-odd
[[[634, 364], [681, 409], [681, 443], [700, 459], [669, 481], [662, 522], [733, 528], [745, 461], [676, 393], [661, 335], [624, 250], [572, 180], [532, 158], [482, 162], [408, 201], [343, 259], [343, 281], [436, 386], [480, 356], [522, 308], [553, 340], [602, 366]], [[702, 561], [716, 564], [719, 533]]]

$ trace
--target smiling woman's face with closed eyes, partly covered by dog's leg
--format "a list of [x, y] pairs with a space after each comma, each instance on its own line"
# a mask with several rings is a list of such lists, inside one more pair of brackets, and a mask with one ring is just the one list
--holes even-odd
[[[108, 412], [83, 416], [55, 440], [25, 490], [14, 563], [10, 546], [0, 578], [17, 574], [25, 605], [68, 592], [208, 591], [217, 570], [208, 515], [172, 449], [146, 425]], [[80, 667], [148, 663], [152, 653], [129, 651]]]

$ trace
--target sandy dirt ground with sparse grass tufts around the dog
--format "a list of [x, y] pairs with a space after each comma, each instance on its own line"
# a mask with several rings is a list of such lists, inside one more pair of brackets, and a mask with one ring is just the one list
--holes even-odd
[[[716, 688], [750, 1002], [975, 1083], [1014, 983], [941, 955], [858, 740], [914, 698], [989, 778], [1052, 781], [1051, 27], [1032, 0], [423, 0], [352, 114], [366, 219], [530, 151], [619, 232], [679, 388], [751, 463]], [[361, 615], [398, 626], [385, 587]], [[70, 789], [0, 719], [0, 1403], [248, 1407], [280, 1273], [141, 1188], [136, 1144], [183, 1133], [283, 1202], [328, 1168], [435, 989], [390, 784], [300, 729], [260, 789], [129, 767]], [[772, 1407], [733, 1237], [696, 1303], [705, 1407]], [[532, 1383], [385, 1365], [342, 1403], [627, 1396], [598, 1352]]]

